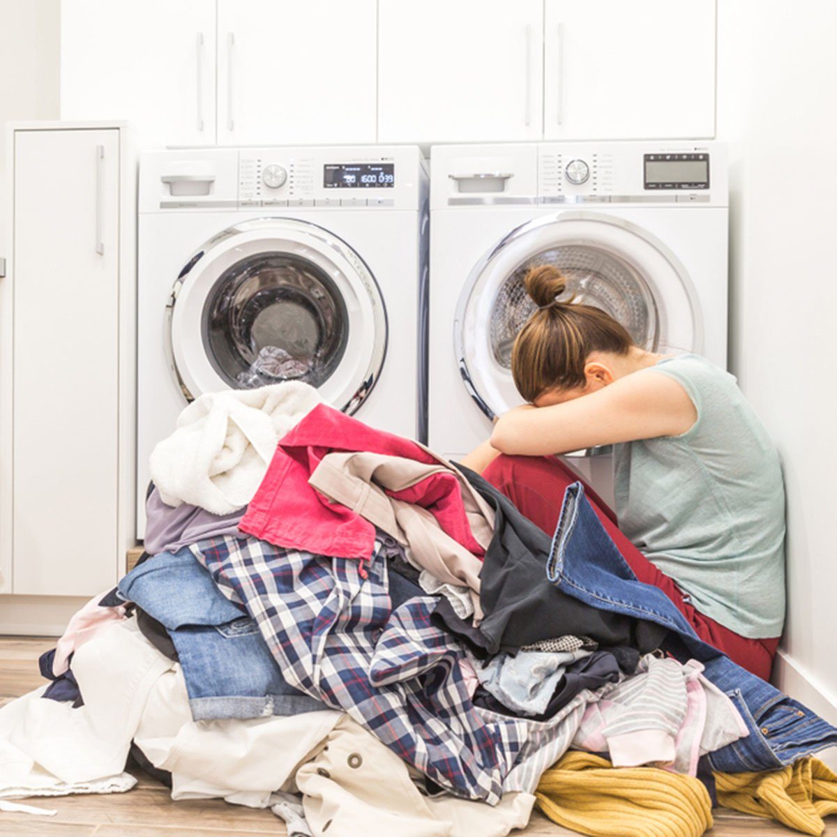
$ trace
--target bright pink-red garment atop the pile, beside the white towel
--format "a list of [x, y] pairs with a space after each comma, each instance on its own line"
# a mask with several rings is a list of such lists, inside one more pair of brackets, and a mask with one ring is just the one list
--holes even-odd
[[[418, 442], [373, 429], [320, 404], [280, 440], [239, 529], [280, 547], [331, 557], [370, 557], [375, 541], [372, 523], [357, 511], [328, 501], [308, 483], [326, 454], [335, 451], [367, 451], [448, 465]], [[477, 557], [485, 555], [470, 529], [460, 482], [452, 470], [386, 493], [427, 509], [457, 543]]]

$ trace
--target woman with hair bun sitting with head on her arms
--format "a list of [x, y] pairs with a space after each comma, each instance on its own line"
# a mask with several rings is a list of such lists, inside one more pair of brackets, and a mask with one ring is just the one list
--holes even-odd
[[566, 280], [552, 266], [525, 283], [537, 311], [511, 371], [528, 403], [465, 465], [552, 533], [578, 479], [552, 454], [613, 444], [616, 515], [588, 499], [625, 560], [701, 639], [767, 679], [784, 618], [784, 490], [735, 378], [697, 355], [646, 352], [604, 311], [558, 300]]

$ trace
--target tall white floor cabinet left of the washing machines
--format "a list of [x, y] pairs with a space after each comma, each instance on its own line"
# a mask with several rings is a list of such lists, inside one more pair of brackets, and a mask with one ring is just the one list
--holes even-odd
[[13, 125], [0, 593], [90, 597], [134, 543], [136, 163], [124, 125]]

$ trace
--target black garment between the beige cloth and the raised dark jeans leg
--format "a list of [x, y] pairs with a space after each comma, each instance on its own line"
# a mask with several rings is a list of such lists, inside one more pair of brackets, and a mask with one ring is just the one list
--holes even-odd
[[[547, 578], [551, 538], [479, 474], [458, 467], [496, 513], [494, 537], [480, 572], [485, 614], [480, 633], [491, 653], [565, 634], [588, 636], [599, 645], [627, 645], [642, 653], [660, 647], [667, 631], [659, 624], [598, 610], [562, 593]], [[453, 629], [449, 619], [444, 623]]]

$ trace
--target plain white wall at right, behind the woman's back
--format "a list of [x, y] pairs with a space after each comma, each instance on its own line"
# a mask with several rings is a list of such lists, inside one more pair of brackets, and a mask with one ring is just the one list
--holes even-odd
[[837, 721], [837, 3], [718, 0], [731, 144], [731, 366], [782, 456], [774, 679]]

